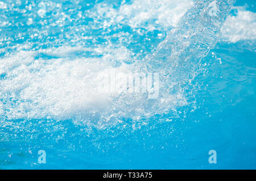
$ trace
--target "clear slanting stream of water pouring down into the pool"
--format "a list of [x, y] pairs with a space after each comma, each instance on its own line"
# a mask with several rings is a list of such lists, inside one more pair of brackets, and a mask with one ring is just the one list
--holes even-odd
[[162, 72], [167, 75], [166, 82], [191, 79], [201, 58], [220, 39], [221, 27], [234, 2], [197, 1], [145, 61], [146, 71]]

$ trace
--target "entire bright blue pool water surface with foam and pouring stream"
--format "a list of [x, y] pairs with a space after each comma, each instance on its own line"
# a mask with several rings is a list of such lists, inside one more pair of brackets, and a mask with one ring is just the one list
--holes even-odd
[[[0, 0], [0, 169], [256, 169], [256, 4], [233, 2]], [[158, 97], [97, 92], [109, 70]]]

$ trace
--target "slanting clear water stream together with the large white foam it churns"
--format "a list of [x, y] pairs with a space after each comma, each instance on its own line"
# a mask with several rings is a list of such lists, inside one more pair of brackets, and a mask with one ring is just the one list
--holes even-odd
[[[67, 51], [63, 57], [63, 50], [56, 54], [58, 49], [51, 48], [39, 52], [19, 51], [4, 58], [0, 69], [2, 120], [74, 119], [76, 123], [105, 128], [123, 118], [141, 121], [156, 114], [173, 112], [175, 115], [177, 107], [187, 104], [185, 85], [195, 76], [201, 58], [216, 44], [233, 3], [197, 1], [159, 44], [153, 56], [145, 58], [143, 65], [138, 62], [115, 66], [113, 57], [133, 57], [122, 47], [117, 52], [127, 52], [125, 57], [107, 48], [98, 57], [70, 60], [71, 52]], [[81, 51], [88, 50], [75, 49], [76, 53]], [[38, 54], [46, 58], [39, 61]], [[112, 54], [115, 55], [112, 57]], [[113, 66], [121, 73], [159, 72], [159, 98], [150, 100], [147, 95], [127, 92], [114, 95], [97, 92], [104, 84], [98, 75]]]

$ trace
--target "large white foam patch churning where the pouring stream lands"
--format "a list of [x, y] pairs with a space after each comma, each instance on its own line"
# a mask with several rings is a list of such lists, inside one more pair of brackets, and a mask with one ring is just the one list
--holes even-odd
[[[106, 82], [100, 75], [110, 69], [118, 73], [129, 73], [132, 70], [129, 65], [113, 68], [111, 62], [122, 62], [133, 55], [124, 47], [115, 49], [114, 53], [108, 48], [99, 48], [96, 51], [103, 54], [100, 58], [69, 58], [72, 52], [81, 49], [61, 47], [40, 50], [40, 53], [60, 58], [36, 60], [39, 52], [19, 51], [2, 59], [0, 72], [6, 74], [6, 77], [0, 79], [0, 99], [6, 102], [3, 103], [5, 111], [1, 111], [0, 115], [6, 119], [50, 117], [65, 120], [79, 117], [79, 121], [102, 126], [114, 124], [121, 117], [139, 120], [140, 117], [187, 104], [182, 92], [164, 95], [156, 100], [128, 92], [102, 94], [98, 90]], [[122, 82], [117, 83], [122, 85]]]

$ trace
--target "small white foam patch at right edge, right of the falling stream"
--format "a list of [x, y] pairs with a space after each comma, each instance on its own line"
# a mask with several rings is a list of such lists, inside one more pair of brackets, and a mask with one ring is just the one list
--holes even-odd
[[229, 15], [222, 27], [222, 40], [236, 43], [256, 39], [256, 13], [245, 7], [234, 7], [237, 15]]

